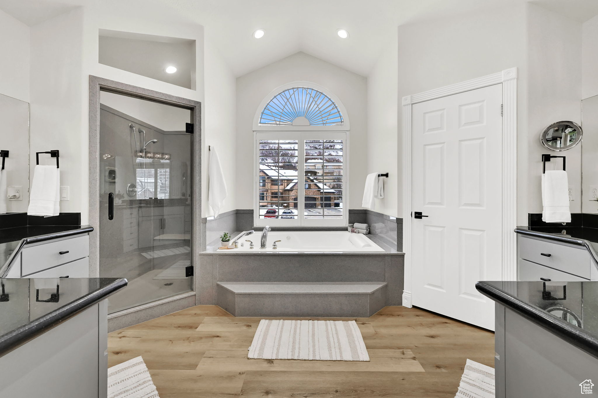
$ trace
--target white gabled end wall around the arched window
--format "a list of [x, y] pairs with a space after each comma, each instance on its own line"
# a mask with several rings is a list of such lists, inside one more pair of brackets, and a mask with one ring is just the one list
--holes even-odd
[[[237, 165], [254, 162], [255, 112], [272, 90], [294, 81], [308, 81], [334, 93], [350, 122], [349, 203], [361, 208], [367, 175], [367, 79], [305, 53], [296, 53], [237, 78]], [[254, 206], [253, 167], [237, 167], [237, 208]]]

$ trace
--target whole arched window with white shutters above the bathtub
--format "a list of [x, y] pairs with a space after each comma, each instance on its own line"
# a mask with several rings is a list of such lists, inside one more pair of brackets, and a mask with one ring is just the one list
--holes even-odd
[[310, 82], [271, 91], [254, 118], [255, 226], [346, 226], [349, 119]]

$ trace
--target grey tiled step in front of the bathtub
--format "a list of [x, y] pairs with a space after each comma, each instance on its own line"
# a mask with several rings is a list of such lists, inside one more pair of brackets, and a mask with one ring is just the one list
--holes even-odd
[[386, 282], [218, 282], [216, 303], [234, 316], [368, 317]]

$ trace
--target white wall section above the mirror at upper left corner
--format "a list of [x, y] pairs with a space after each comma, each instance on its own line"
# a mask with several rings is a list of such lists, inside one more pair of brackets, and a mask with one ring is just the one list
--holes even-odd
[[0, 94], [29, 102], [29, 26], [0, 10]]

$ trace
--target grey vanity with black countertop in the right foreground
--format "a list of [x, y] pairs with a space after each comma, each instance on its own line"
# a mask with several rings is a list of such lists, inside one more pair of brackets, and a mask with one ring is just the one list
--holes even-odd
[[598, 282], [478, 282], [476, 288], [496, 302], [497, 398], [591, 391], [598, 380]]

